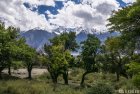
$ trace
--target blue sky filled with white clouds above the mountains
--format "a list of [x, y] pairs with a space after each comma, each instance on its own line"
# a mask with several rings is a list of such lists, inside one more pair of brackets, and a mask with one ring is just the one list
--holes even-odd
[[0, 20], [21, 31], [59, 26], [107, 31], [112, 11], [136, 0], [0, 0]]

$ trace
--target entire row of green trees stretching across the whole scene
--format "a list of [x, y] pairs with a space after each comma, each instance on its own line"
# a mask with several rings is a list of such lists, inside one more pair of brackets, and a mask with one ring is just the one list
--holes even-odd
[[[63, 33], [50, 39], [49, 45], [45, 44], [45, 54], [38, 54], [25, 44], [25, 40], [18, 36], [18, 29], [6, 29], [4, 24], [0, 24], [0, 74], [8, 68], [10, 75], [13, 61], [22, 61], [30, 79], [33, 65], [42, 62], [54, 84], [61, 74], [64, 83], [68, 84], [71, 67], [85, 69], [81, 86], [84, 85], [85, 76], [93, 72], [115, 73], [117, 81], [120, 75], [126, 78], [140, 77], [140, 54], [135, 53], [140, 51], [140, 0], [114, 12], [108, 21], [110, 31], [119, 32], [119, 36], [109, 37], [101, 44], [95, 35], [89, 34], [78, 46], [74, 32]], [[71, 51], [76, 51], [79, 47], [81, 53], [75, 58]]]

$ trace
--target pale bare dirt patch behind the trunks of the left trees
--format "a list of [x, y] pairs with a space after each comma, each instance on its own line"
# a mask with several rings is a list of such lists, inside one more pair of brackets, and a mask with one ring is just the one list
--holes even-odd
[[[3, 73], [8, 73], [8, 70], [7, 69], [3, 70]], [[19, 78], [26, 78], [28, 76], [27, 69], [18, 69], [18, 70], [11, 69], [11, 73], [12, 73], [12, 76], [16, 76]], [[44, 74], [44, 73], [47, 73], [47, 69], [33, 68], [32, 70], [33, 77]]]

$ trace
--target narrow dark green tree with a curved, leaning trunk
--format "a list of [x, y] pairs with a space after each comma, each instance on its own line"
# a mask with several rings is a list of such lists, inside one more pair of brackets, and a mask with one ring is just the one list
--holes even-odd
[[82, 60], [84, 62], [85, 73], [82, 76], [81, 86], [84, 84], [85, 76], [89, 73], [97, 71], [96, 57], [100, 49], [100, 40], [95, 35], [88, 35], [86, 41], [82, 43]]

